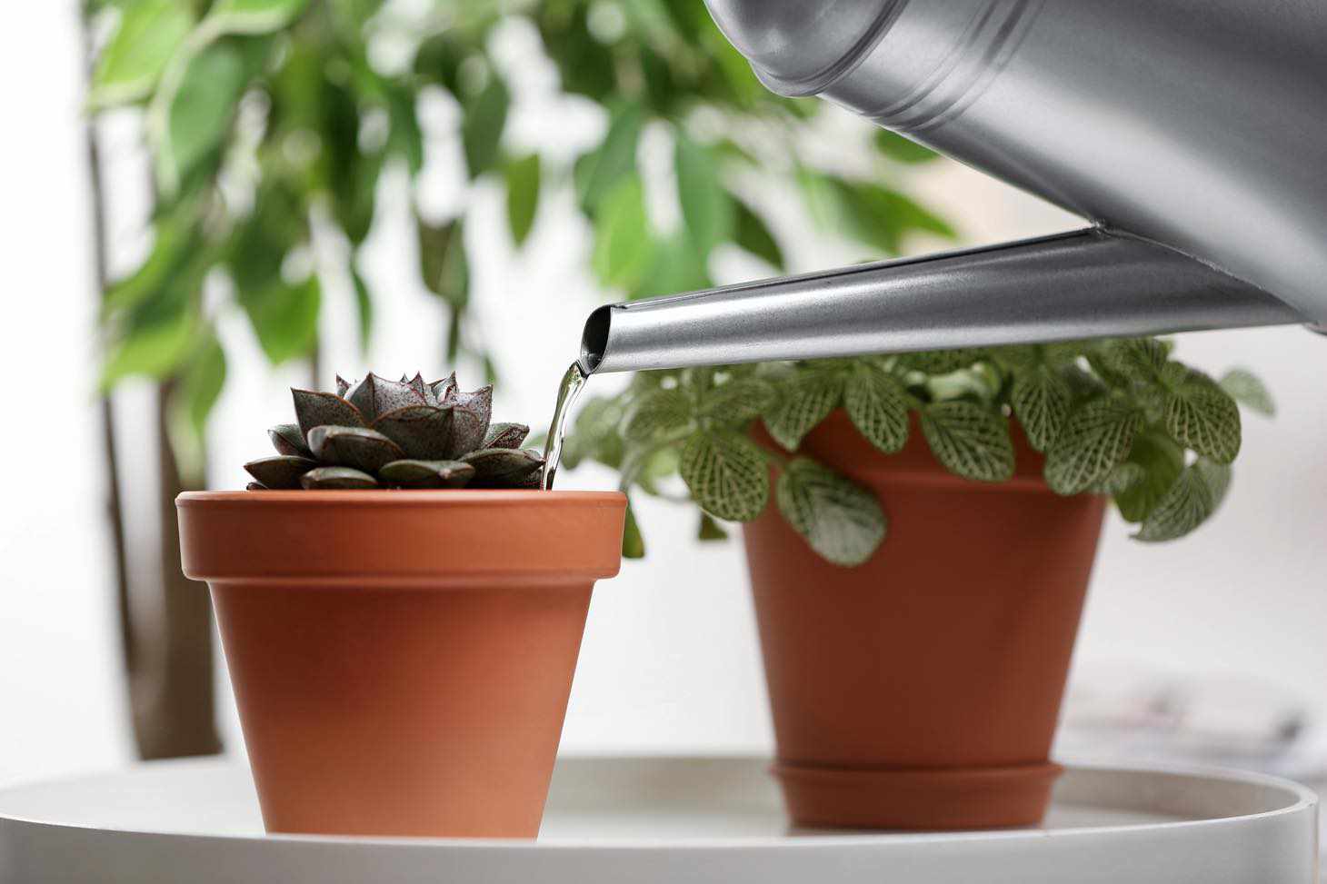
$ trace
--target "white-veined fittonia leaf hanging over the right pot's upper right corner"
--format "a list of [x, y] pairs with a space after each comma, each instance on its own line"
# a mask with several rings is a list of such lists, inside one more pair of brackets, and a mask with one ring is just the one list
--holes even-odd
[[1046, 482], [1056, 494], [1078, 494], [1104, 479], [1129, 455], [1143, 415], [1133, 405], [1092, 400], [1078, 406], [1046, 455]]

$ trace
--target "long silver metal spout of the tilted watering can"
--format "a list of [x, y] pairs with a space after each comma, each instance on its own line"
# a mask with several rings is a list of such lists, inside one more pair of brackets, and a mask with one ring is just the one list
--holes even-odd
[[587, 374], [1282, 325], [1285, 301], [1097, 228], [594, 311]]

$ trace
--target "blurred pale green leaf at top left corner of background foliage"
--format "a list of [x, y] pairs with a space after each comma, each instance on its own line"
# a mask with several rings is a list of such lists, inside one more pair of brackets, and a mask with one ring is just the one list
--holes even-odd
[[94, 108], [145, 98], [194, 24], [179, 0], [138, 0], [119, 11], [119, 25], [101, 50], [92, 78]]

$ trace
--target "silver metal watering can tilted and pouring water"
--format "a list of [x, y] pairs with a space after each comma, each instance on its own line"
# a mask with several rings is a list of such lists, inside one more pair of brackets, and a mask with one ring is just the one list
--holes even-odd
[[759, 78], [1088, 219], [594, 311], [625, 372], [1327, 323], [1327, 0], [706, 0]]

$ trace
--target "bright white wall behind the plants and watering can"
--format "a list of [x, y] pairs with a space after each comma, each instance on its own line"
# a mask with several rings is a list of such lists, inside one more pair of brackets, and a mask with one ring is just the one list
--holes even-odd
[[[107, 767], [130, 757], [92, 396], [94, 295], [74, 5], [29, 4], [21, 24], [0, 31], [0, 366], [8, 405], [0, 431], [0, 779]], [[547, 72], [536, 68], [520, 93], [537, 97], [547, 88]], [[535, 105], [519, 106], [516, 142], [563, 142], [568, 130], [592, 138], [601, 125], [575, 102]], [[106, 137], [113, 157], [131, 158], [131, 125], [111, 125]], [[827, 139], [825, 150], [837, 143]], [[142, 207], [131, 198], [141, 182], [131, 163], [111, 183], [129, 208], [117, 212], [113, 234], [129, 243], [118, 261], [131, 264], [142, 247], [141, 236], [134, 244]], [[454, 192], [446, 170], [443, 158], [430, 173], [443, 204]], [[925, 173], [914, 190], [957, 219], [970, 243], [1074, 224], [951, 165]], [[482, 320], [507, 381], [498, 411], [540, 423], [598, 295], [580, 271], [588, 243], [568, 199], [540, 210], [528, 250], [514, 255], [495, 196], [480, 187], [484, 220], [471, 234], [484, 255], [476, 268]], [[766, 199], [780, 216], [798, 269], [860, 256], [805, 236], [787, 195]], [[391, 295], [381, 305], [377, 358], [365, 364], [354, 353], [350, 323], [340, 319], [348, 315], [345, 293], [329, 292], [329, 368], [442, 368], [442, 319], [411, 271], [402, 269], [413, 267], [413, 246], [401, 210], [399, 199], [389, 200], [369, 255], [376, 289]], [[735, 280], [758, 268], [725, 256], [718, 271]], [[265, 451], [263, 427], [287, 415], [285, 388], [304, 378], [297, 369], [273, 377], [242, 321], [227, 320], [224, 334], [235, 357], [214, 427], [212, 482], [238, 487], [239, 465]], [[1314, 709], [1327, 707], [1327, 340], [1292, 328], [1222, 332], [1188, 336], [1180, 353], [1214, 372], [1254, 368], [1282, 413], [1275, 422], [1246, 421], [1225, 511], [1193, 538], [1147, 547], [1129, 542], [1123, 523], [1108, 526], [1078, 670], [1123, 664], [1251, 677], [1296, 692]], [[130, 388], [121, 397], [126, 425], [141, 413], [142, 393]], [[130, 461], [151, 458], [142, 434], [130, 433], [125, 450]], [[130, 495], [141, 496], [130, 482]], [[564, 482], [609, 487], [612, 477], [584, 469]], [[763, 751], [770, 727], [740, 551], [695, 544], [695, 516], [686, 510], [642, 502], [640, 518], [649, 559], [624, 564], [621, 576], [596, 592], [564, 746]], [[129, 527], [137, 536], [154, 532], [146, 516], [135, 515]], [[220, 702], [235, 749], [224, 692]]]

